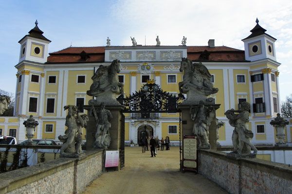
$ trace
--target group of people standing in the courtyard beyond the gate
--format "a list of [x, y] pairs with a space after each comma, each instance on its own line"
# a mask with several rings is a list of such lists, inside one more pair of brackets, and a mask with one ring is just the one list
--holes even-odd
[[161, 151], [164, 150], [164, 146], [166, 146], [165, 150], [169, 150], [169, 143], [170, 141], [168, 136], [166, 136], [165, 139], [162, 137], [161, 140], [158, 138], [158, 136], [156, 136], [156, 138], [153, 138], [153, 136], [150, 137], [142, 136], [141, 139], [142, 153], [145, 153], [150, 148], [151, 157], [153, 156], [156, 157], [157, 151], [159, 150], [160, 147]]

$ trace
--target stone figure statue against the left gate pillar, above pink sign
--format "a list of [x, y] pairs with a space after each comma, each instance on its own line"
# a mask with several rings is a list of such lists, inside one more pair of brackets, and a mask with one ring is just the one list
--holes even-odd
[[93, 104], [91, 104], [91, 110], [93, 112], [96, 121], [96, 133], [95, 133], [95, 148], [105, 148], [110, 146], [110, 120], [112, 115], [109, 110], [105, 109], [105, 104], [100, 103], [100, 109], [96, 112]]

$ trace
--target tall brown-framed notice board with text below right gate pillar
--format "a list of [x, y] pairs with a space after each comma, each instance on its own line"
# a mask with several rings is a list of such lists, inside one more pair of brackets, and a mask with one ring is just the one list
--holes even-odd
[[198, 173], [197, 137], [195, 135], [183, 136], [183, 170]]

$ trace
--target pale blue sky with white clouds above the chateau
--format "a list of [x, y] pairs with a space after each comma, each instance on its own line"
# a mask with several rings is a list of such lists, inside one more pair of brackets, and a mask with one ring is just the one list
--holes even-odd
[[280, 98], [292, 94], [291, 0], [0, 0], [0, 89], [15, 93], [20, 45], [35, 21], [52, 42], [49, 52], [67, 47], [137, 44], [215, 46], [244, 49], [241, 39], [256, 25], [277, 39]]

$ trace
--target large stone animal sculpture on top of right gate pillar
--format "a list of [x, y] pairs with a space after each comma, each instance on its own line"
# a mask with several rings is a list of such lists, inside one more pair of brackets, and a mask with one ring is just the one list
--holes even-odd
[[187, 94], [184, 104], [188, 101], [206, 100], [207, 96], [218, 92], [211, 82], [211, 74], [201, 63], [192, 63], [182, 58], [180, 72], [183, 72], [183, 81], [179, 82], [179, 90]]

